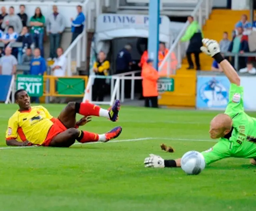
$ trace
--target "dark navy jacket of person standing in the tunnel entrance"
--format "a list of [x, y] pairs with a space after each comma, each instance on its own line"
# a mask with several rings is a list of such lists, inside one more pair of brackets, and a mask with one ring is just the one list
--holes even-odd
[[116, 70], [117, 72], [123, 72], [129, 69], [129, 63], [132, 62], [132, 55], [131, 53], [123, 48], [117, 54], [116, 58]]

